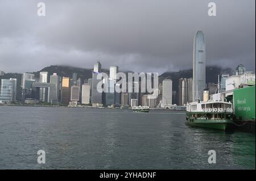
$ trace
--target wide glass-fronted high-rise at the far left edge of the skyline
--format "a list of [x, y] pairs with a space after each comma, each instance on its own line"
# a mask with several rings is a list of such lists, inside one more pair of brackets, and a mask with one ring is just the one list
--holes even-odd
[[1, 79], [0, 103], [10, 103], [15, 101], [16, 79]]

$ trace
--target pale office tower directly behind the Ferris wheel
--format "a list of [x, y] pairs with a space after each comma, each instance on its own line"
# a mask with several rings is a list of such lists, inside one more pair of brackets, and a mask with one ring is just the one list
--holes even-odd
[[163, 80], [163, 104], [162, 106], [171, 106], [172, 105], [172, 80], [164, 79]]

